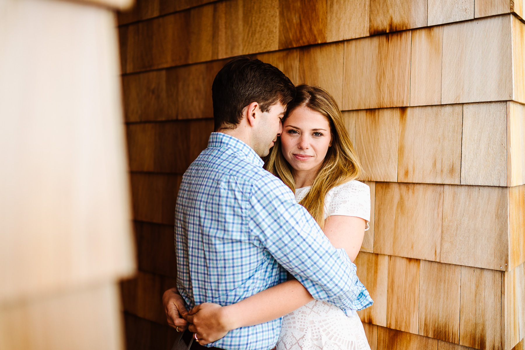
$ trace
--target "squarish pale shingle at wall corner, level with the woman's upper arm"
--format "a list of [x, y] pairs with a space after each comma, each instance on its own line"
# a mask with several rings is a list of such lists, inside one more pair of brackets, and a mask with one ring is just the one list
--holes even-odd
[[506, 270], [507, 188], [445, 185], [440, 261]]

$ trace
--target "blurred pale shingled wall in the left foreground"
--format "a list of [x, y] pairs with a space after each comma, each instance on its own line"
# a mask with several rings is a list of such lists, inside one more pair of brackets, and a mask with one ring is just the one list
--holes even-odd
[[124, 347], [134, 272], [116, 16], [0, 0], [0, 349]]

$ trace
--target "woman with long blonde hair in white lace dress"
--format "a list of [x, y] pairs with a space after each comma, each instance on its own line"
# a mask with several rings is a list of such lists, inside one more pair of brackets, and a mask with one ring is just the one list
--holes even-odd
[[[355, 180], [361, 165], [330, 94], [316, 86], [297, 86], [296, 99], [288, 105], [282, 134], [265, 169], [295, 192], [298, 203], [333, 246], [344, 248], [353, 261], [368, 229], [370, 188]], [[283, 317], [277, 349], [370, 349], [355, 310], [345, 313], [328, 302], [313, 300], [302, 288], [282, 296], [278, 286], [272, 287], [227, 307], [197, 305], [190, 312], [195, 323], [190, 331], [204, 345], [237, 327], [274, 319], [275, 310], [272, 314], [269, 309], [300, 299], [304, 306]]]

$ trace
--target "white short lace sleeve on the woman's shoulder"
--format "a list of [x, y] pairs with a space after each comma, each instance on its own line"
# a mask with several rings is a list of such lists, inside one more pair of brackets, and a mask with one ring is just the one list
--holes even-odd
[[357, 216], [366, 220], [365, 231], [369, 229], [370, 221], [370, 187], [367, 184], [353, 180], [331, 189], [330, 198], [326, 203], [327, 214]]

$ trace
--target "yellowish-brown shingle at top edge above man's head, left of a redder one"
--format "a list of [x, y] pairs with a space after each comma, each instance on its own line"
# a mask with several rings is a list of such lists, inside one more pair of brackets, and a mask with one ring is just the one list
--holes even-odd
[[279, 1], [245, 1], [243, 51], [258, 53], [279, 49]]

